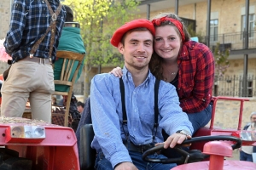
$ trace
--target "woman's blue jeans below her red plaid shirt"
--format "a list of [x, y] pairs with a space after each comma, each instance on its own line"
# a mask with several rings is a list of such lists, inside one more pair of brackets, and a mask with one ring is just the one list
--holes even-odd
[[200, 129], [207, 125], [212, 118], [212, 102], [207, 106], [207, 108], [203, 111], [197, 113], [188, 113], [189, 121], [192, 123], [194, 128], [193, 134]]

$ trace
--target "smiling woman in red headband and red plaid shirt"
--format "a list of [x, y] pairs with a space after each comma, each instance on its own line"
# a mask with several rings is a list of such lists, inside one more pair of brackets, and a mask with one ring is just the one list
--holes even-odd
[[[212, 117], [214, 58], [204, 44], [190, 41], [189, 32], [176, 14], [159, 14], [155, 27], [154, 54], [149, 69], [155, 77], [172, 83], [180, 106], [189, 116], [194, 133]], [[120, 68], [111, 71], [121, 77]]]

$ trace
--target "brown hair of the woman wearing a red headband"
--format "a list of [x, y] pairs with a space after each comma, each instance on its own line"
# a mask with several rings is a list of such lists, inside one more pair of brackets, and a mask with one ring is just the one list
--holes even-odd
[[[186, 26], [184, 26], [184, 24], [183, 24], [183, 20], [181, 20], [177, 16], [177, 14], [162, 13], [162, 14], [156, 15], [152, 20], [160, 19], [160, 18], [165, 17], [165, 16], [167, 16], [168, 18], [172, 18], [172, 19], [175, 19], [175, 20], [178, 20], [178, 21], [181, 22], [181, 24], [183, 25], [183, 32], [184, 32], [184, 36], [185, 36], [184, 42], [188, 42], [189, 39], [190, 39], [189, 31], [187, 31]], [[166, 20], [166, 21], [160, 23], [160, 26], [167, 26], [167, 25], [168, 26], [173, 26], [174, 29], [177, 31], [177, 35], [182, 39], [181, 34], [178, 31], [177, 27], [174, 24], [172, 24], [171, 21]], [[160, 26], [154, 26], [154, 27], [156, 28], [156, 27], [160, 27]], [[154, 77], [156, 77], [157, 79], [166, 81], [166, 78], [163, 77], [163, 67], [162, 67], [163, 62], [164, 62], [164, 59], [162, 59], [158, 54], [156, 54], [154, 52], [148, 66], [149, 66], [150, 71], [154, 75]]]

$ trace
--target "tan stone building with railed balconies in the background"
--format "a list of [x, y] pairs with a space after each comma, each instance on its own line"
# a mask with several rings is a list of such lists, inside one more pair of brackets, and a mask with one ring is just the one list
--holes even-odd
[[[1, 0], [0, 39], [9, 30], [10, 9], [13, 0]], [[141, 4], [137, 18], [152, 19], [160, 13], [177, 13], [183, 21], [195, 23], [195, 31], [203, 37], [201, 42], [208, 43], [212, 49], [220, 47], [230, 50], [230, 67], [224, 77], [217, 77], [213, 88], [215, 95], [243, 96], [243, 80], [247, 76], [247, 97], [256, 96], [256, 0], [138, 0]], [[210, 5], [209, 5], [210, 2]], [[248, 10], [247, 10], [248, 9]], [[207, 18], [210, 14], [210, 22]], [[248, 16], [247, 16], [248, 15]], [[247, 31], [248, 20], [248, 31]], [[189, 23], [190, 23], [189, 22]], [[208, 24], [209, 23], [209, 24]], [[207, 30], [209, 26], [210, 31]], [[210, 33], [209, 33], [210, 32]], [[8, 65], [0, 63], [0, 72]], [[112, 67], [102, 68], [109, 71]], [[90, 77], [98, 73], [92, 69]], [[246, 74], [245, 74], [246, 73]], [[81, 81], [83, 81], [81, 79]], [[78, 85], [79, 94], [83, 94]]]

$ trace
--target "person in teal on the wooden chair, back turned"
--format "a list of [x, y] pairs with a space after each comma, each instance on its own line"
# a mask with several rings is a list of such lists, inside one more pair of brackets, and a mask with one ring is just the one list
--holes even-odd
[[[73, 11], [67, 5], [63, 5], [63, 6], [66, 10], [67, 17], [65, 20], [65, 26], [61, 33], [60, 43], [57, 50], [65, 50], [65, 51], [72, 51], [79, 54], [85, 54], [84, 42], [80, 35], [80, 28], [73, 27], [73, 24], [72, 24]], [[62, 65], [63, 65], [63, 59], [56, 59], [55, 65], [54, 65], [54, 75], [56, 80], [59, 80], [61, 77]], [[79, 65], [79, 61], [74, 62], [73, 70], [71, 71], [71, 77], [73, 77], [73, 74], [75, 72], [75, 68], [77, 67], [77, 65]], [[84, 61], [80, 66], [76, 81], [79, 80], [81, 72], [83, 71], [83, 65], [84, 65]], [[69, 86], [55, 84], [55, 91], [67, 92], [68, 90], [69, 90]]]

